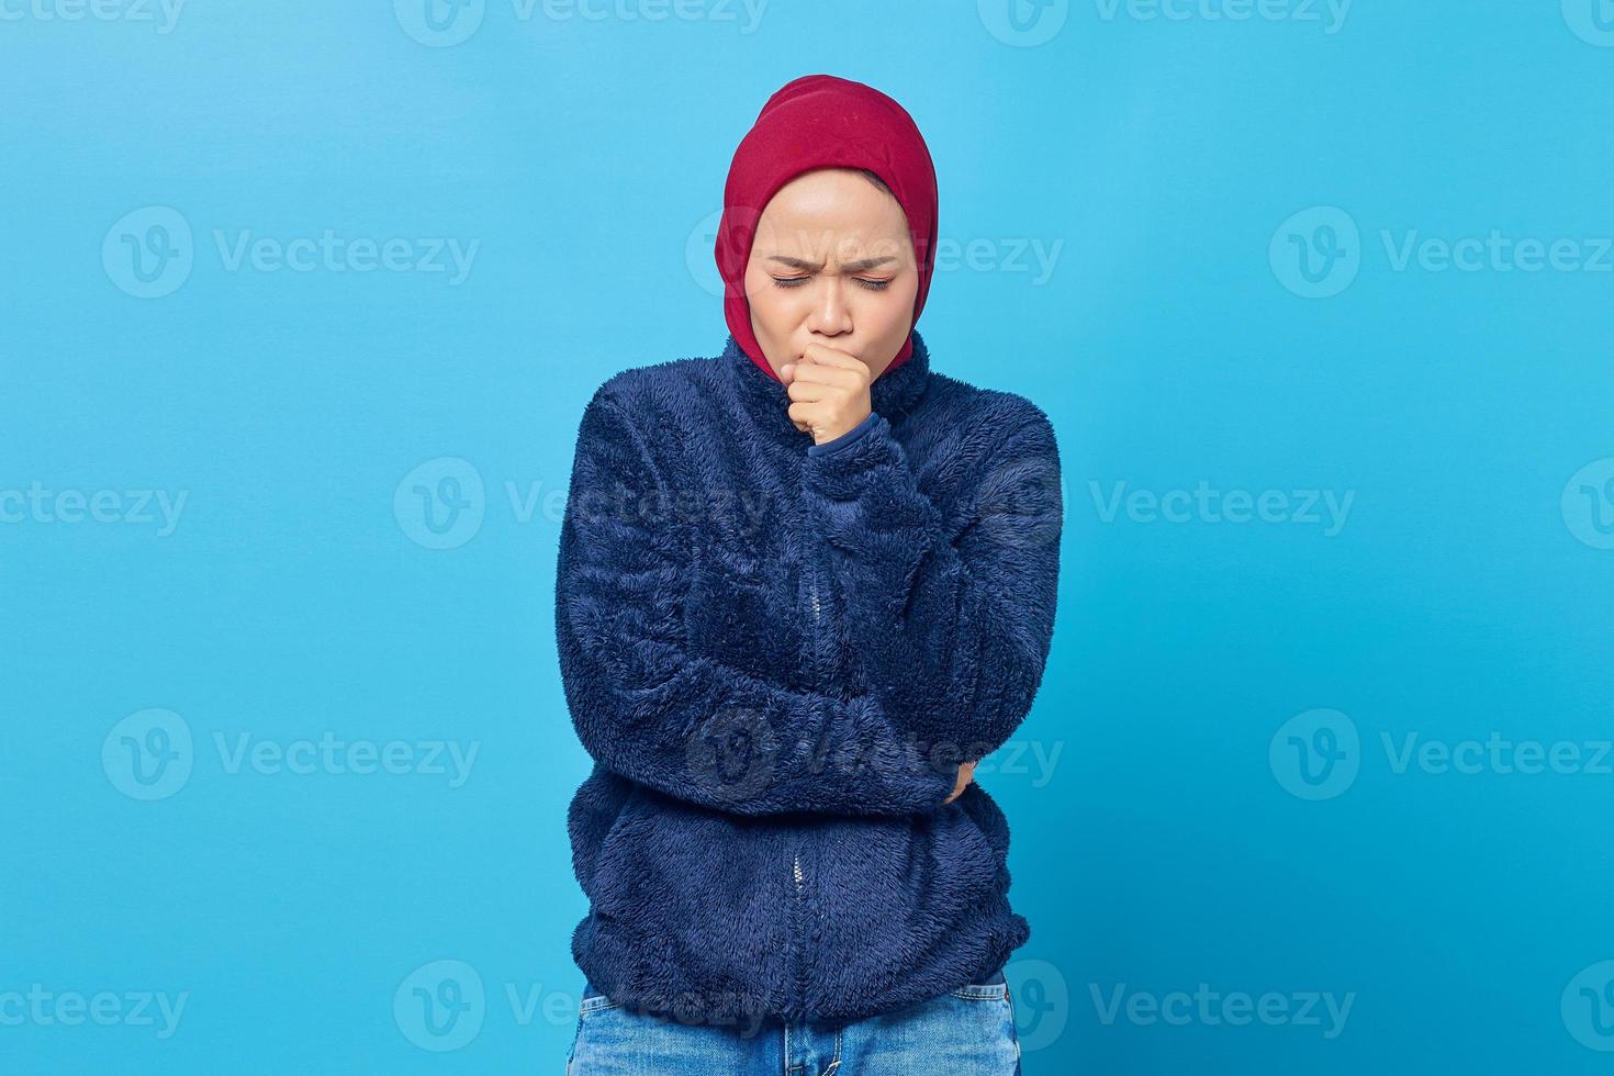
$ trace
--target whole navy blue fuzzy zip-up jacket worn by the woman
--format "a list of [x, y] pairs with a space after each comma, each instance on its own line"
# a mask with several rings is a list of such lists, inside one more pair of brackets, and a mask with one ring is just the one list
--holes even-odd
[[555, 581], [594, 773], [571, 952], [681, 1021], [852, 1021], [985, 982], [1030, 937], [978, 760], [1031, 708], [1064, 519], [1047, 416], [933, 373], [815, 445], [728, 337], [583, 411]]

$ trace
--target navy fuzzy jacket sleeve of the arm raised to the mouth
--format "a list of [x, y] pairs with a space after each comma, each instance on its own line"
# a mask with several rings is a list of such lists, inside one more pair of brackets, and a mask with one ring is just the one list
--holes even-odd
[[[807, 507], [852, 652], [905, 729], [981, 758], [1031, 708], [1054, 632], [1064, 497], [1047, 416], [1020, 402], [947, 518], [875, 413], [807, 450]], [[968, 457], [965, 457], [967, 460]]]

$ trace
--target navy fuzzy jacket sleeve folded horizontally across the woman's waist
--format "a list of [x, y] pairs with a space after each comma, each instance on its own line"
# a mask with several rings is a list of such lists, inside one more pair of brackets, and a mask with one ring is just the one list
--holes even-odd
[[607, 382], [583, 413], [555, 569], [562, 682], [589, 755], [738, 815], [941, 807], [960, 758], [901, 734], [878, 700], [786, 689], [691, 647], [692, 557], [642, 508], [667, 492]]

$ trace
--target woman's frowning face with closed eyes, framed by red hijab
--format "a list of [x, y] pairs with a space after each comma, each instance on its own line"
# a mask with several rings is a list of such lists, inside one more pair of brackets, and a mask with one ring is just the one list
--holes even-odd
[[751, 329], [778, 373], [809, 344], [884, 373], [914, 327], [918, 268], [897, 200], [851, 168], [784, 184], [757, 221], [746, 263]]

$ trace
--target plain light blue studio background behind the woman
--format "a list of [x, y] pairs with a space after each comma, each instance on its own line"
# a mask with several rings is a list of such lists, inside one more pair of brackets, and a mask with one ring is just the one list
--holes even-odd
[[[730, 156], [817, 71], [930, 142], [954, 244], [920, 321], [935, 368], [1059, 431], [1052, 658], [981, 774], [1033, 924], [1025, 1071], [1614, 1065], [1611, 760], [1398, 771], [1383, 745], [1496, 732], [1588, 763], [1614, 736], [1614, 255], [1394, 261], [1414, 232], [1493, 229], [1598, 256], [1614, 5], [1088, 0], [1015, 29], [1001, 0], [487, 0], [434, 35], [386, 0], [192, 0], [171, 24], [69, 2], [0, 0], [0, 490], [110, 490], [116, 519], [129, 490], [186, 502], [166, 534], [155, 507], [5, 502], [0, 1070], [560, 1071], [586, 910], [552, 637], [578, 416], [621, 368], [721, 347]], [[123, 236], [173, 223], [148, 206], [194, 239], [140, 298]], [[231, 269], [215, 240], [326, 229], [478, 245], [450, 282]], [[1306, 297], [1301, 245], [1336, 294]], [[437, 537], [413, 487], [442, 478], [468, 515]], [[1349, 513], [1328, 536], [1106, 510], [1119, 482], [1201, 481]], [[142, 802], [115, 726], [152, 708], [192, 769]], [[1319, 723], [1348, 758], [1311, 786], [1290, 732], [1327, 745]], [[450, 787], [231, 771], [215, 742], [326, 732], [478, 755]], [[439, 960], [484, 987], [458, 1039], [408, 1015]], [[36, 982], [187, 1000], [168, 1037], [18, 1020], [5, 995]], [[1351, 1010], [1333, 1037], [1104, 1018], [1117, 989], [1201, 982]]]

